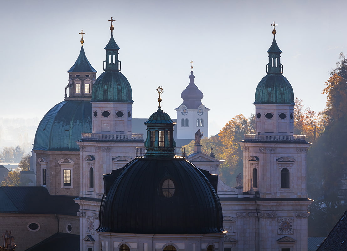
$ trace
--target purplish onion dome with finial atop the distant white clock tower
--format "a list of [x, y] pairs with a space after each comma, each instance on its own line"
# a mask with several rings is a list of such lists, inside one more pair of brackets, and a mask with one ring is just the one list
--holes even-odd
[[197, 109], [199, 105], [202, 105], [201, 99], [204, 95], [194, 83], [195, 76], [193, 75], [193, 66], [191, 66], [191, 68], [191, 75], [189, 75], [190, 82], [181, 93], [181, 98], [183, 98], [182, 105], [185, 105], [188, 109]]

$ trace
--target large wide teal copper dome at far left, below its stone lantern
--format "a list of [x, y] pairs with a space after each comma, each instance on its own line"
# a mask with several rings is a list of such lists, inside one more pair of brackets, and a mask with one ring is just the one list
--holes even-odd
[[55, 105], [37, 127], [34, 150], [79, 151], [81, 132], [92, 132], [90, 101], [65, 100]]

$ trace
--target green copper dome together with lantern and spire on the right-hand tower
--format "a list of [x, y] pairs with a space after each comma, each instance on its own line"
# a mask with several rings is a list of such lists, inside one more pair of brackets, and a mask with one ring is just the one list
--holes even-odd
[[283, 65], [280, 63], [282, 51], [276, 43], [276, 30], [273, 30], [272, 33], [273, 41], [267, 51], [269, 54], [269, 63], [266, 65], [267, 75], [260, 80], [256, 88], [254, 104], [295, 105], [293, 88], [282, 75]]

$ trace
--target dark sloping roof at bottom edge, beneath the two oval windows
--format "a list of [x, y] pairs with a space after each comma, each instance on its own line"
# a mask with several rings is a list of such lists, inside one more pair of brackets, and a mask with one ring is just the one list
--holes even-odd
[[25, 251], [79, 251], [79, 235], [56, 233]]

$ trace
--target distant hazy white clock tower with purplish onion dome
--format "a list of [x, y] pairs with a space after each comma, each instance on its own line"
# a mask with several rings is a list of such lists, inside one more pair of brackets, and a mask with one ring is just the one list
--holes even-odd
[[[183, 103], [175, 109], [177, 112], [177, 145], [188, 144], [195, 139], [195, 132], [200, 129], [204, 137], [208, 137], [208, 111], [209, 108], [204, 106], [201, 99], [204, 97], [201, 90], [194, 83], [193, 61], [191, 62], [190, 82], [185, 90], [181, 93]], [[186, 139], [186, 140], [184, 140]], [[180, 144], [180, 143], [183, 144]]]

